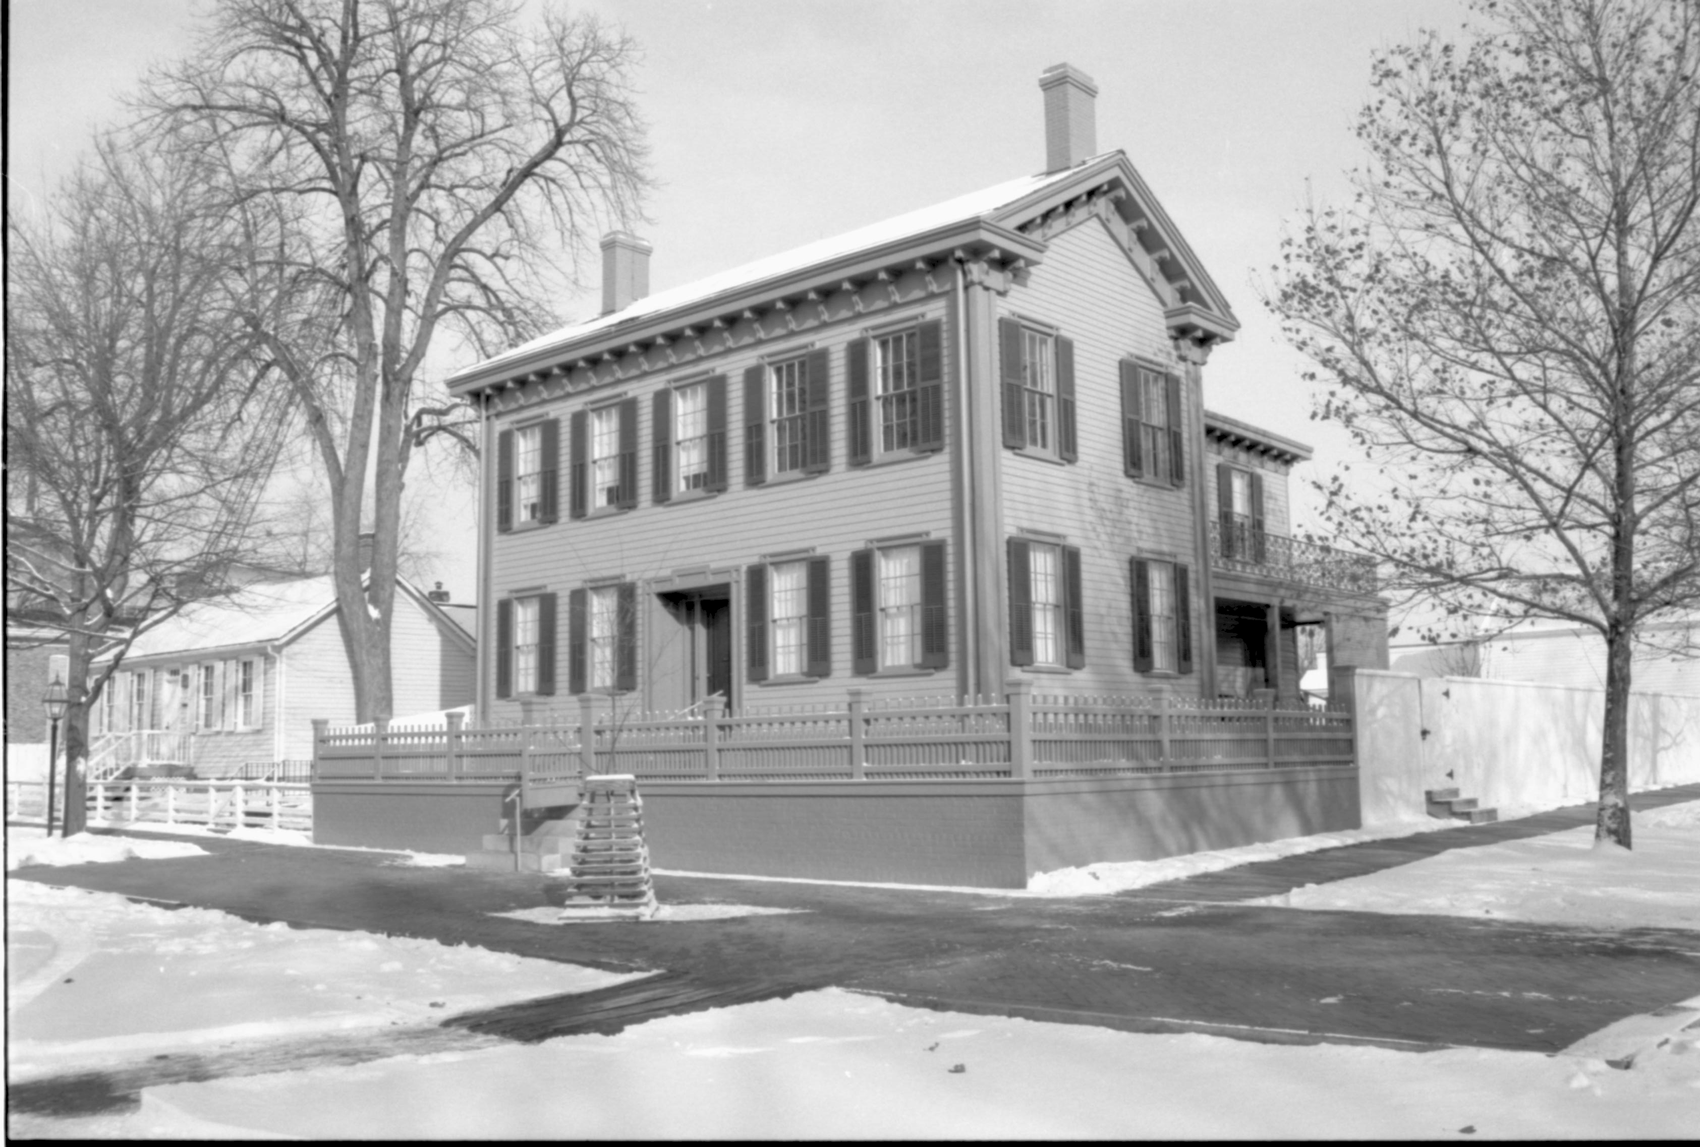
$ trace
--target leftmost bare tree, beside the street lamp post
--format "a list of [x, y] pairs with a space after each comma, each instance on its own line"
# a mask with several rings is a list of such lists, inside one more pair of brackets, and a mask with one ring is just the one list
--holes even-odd
[[[46, 218], [7, 216], [7, 610], [68, 644], [66, 761], [129, 644], [267, 557], [253, 510], [289, 418], [235, 321], [240, 233], [134, 144], [102, 139]], [[71, 770], [66, 833], [82, 817]]]

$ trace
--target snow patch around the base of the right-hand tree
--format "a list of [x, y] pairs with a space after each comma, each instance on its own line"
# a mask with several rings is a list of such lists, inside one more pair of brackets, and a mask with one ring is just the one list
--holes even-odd
[[[1634, 850], [1595, 846], [1595, 831], [1584, 826], [1459, 848], [1250, 902], [1590, 928], [1700, 929], [1700, 800], [1635, 812], [1632, 829]], [[1700, 1127], [1700, 1110], [1695, 1116]]]

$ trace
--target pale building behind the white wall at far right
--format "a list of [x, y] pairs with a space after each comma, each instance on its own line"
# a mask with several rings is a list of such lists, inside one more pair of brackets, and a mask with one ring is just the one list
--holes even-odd
[[[1394, 642], [1394, 673], [1481, 676], [1605, 688], [1605, 637], [1569, 622], [1528, 620], [1476, 641]], [[1630, 688], [1700, 697], [1700, 615], [1647, 625], [1635, 646]]]

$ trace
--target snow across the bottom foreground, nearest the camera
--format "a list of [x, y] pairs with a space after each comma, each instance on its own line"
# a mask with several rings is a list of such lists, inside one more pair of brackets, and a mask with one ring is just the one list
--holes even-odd
[[[1700, 1001], [1697, 1001], [1700, 1003]], [[1290, 1047], [826, 989], [619, 1035], [173, 1084], [14, 1133], [306, 1139], [1692, 1137], [1700, 1033], [1598, 1059]]]

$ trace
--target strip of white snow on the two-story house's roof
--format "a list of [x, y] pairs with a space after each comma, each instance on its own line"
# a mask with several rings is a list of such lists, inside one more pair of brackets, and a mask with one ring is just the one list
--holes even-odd
[[1020, 199], [1025, 199], [1027, 195], [1042, 192], [1054, 184], [1076, 178], [1085, 168], [1119, 155], [1120, 151], [1107, 151], [1086, 160], [1083, 165], [1064, 168], [1061, 172], [1012, 178], [993, 187], [984, 187], [978, 192], [969, 192], [967, 195], [947, 199], [945, 202], [933, 204], [932, 207], [921, 207], [920, 211], [892, 216], [891, 219], [882, 219], [865, 228], [857, 228], [855, 231], [845, 231], [843, 234], [816, 240], [814, 243], [806, 243], [804, 246], [796, 246], [789, 251], [780, 251], [779, 255], [758, 258], [753, 263], [733, 267], [731, 270], [722, 270], [716, 275], [688, 282], [682, 287], [672, 287], [658, 294], [644, 296], [620, 311], [612, 311], [610, 314], [604, 314], [585, 323], [563, 326], [558, 331], [541, 335], [529, 343], [522, 343], [513, 350], [503, 352], [495, 359], [486, 359], [484, 362], [479, 362], [474, 370], [488, 370], [490, 367], [502, 365], [508, 360], [525, 359], [539, 350], [566, 345], [631, 319], [661, 314], [692, 302], [711, 299], [726, 291], [755, 285], [767, 279], [777, 279], [790, 272], [806, 270], [816, 263], [826, 263], [867, 248], [896, 243], [915, 234], [925, 234], [926, 231], [933, 231], [952, 223], [994, 214], [1000, 207], [1006, 207]]

